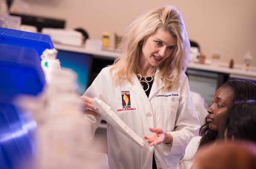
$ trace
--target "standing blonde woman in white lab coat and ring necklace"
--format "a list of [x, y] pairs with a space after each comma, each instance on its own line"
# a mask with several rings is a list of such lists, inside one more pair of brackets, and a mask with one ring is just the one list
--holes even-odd
[[107, 124], [111, 169], [175, 168], [198, 135], [200, 122], [185, 75], [189, 49], [183, 17], [174, 6], [148, 11], [125, 30], [122, 57], [102, 69], [81, 96], [92, 134], [102, 120], [92, 111], [97, 97], [148, 143], [141, 148]]

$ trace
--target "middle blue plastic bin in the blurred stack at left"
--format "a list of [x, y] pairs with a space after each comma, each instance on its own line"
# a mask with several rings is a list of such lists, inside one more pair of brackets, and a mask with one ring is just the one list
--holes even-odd
[[34, 49], [0, 44], [0, 95], [37, 95], [45, 82], [41, 60]]

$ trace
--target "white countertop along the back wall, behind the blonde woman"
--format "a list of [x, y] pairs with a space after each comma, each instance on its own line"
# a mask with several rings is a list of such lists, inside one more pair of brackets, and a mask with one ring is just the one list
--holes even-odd
[[[102, 51], [96, 51], [96, 50], [88, 50], [84, 46], [73, 46], [73, 45], [63, 45], [55, 43], [54, 47], [57, 50], [62, 51], [71, 51], [71, 52], [78, 52], [78, 53], [84, 53], [84, 54], [91, 54], [96, 58], [102, 58], [102, 59], [116, 59], [121, 57], [122, 55], [116, 52], [116, 49], [107, 49], [103, 48]], [[228, 63], [219, 63], [218, 65], [211, 65], [210, 61], [206, 61], [205, 64], [199, 64], [194, 62], [189, 62], [188, 68], [191, 69], [197, 69], [197, 70], [205, 70], [205, 71], [212, 71], [212, 72], [218, 72], [218, 73], [227, 73], [230, 74], [231, 77], [234, 78], [241, 78], [241, 79], [248, 79], [256, 81], [256, 68], [251, 67], [250, 71], [245, 71], [242, 69], [241, 65], [234, 65], [234, 68], [229, 68]]]

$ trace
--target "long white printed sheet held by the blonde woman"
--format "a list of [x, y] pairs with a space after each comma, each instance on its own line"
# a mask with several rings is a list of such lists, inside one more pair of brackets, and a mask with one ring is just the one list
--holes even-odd
[[113, 127], [116, 127], [120, 132], [126, 135], [131, 140], [135, 141], [140, 146], [144, 146], [145, 141], [140, 138], [133, 130], [131, 130], [117, 115], [111, 110], [111, 107], [108, 104], [105, 104], [101, 99], [95, 98], [93, 101], [98, 110], [96, 113], [102, 116], [102, 118], [111, 124]]

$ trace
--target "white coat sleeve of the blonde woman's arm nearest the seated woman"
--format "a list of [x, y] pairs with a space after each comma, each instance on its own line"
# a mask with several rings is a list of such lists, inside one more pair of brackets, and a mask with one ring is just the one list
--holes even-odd
[[180, 100], [177, 108], [175, 130], [169, 132], [173, 137], [172, 148], [165, 154], [182, 154], [189, 141], [199, 135], [200, 121], [195, 110], [195, 105], [189, 90], [189, 81], [186, 75], [180, 82]]

